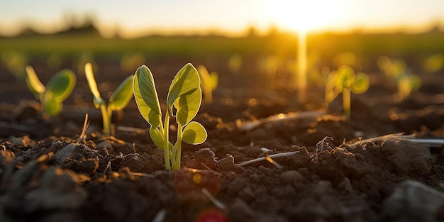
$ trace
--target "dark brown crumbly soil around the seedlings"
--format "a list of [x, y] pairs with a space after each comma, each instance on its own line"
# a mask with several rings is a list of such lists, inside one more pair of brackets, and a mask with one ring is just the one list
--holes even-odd
[[[98, 63], [97, 82], [107, 81], [111, 90], [127, 75], [117, 74], [113, 63]], [[150, 67], [161, 101], [185, 62], [166, 64]], [[44, 119], [23, 79], [0, 70], [6, 73], [0, 75], [0, 221], [444, 220], [442, 146], [401, 139], [351, 143], [400, 132], [443, 138], [439, 74], [421, 76], [421, 90], [403, 102], [394, 102], [395, 89], [372, 74], [370, 90], [352, 96], [346, 120], [340, 98], [325, 110], [323, 90], [311, 87], [303, 106], [279, 84], [265, 90], [245, 67], [246, 74], [221, 75], [214, 103], [203, 104], [195, 118], [209, 137], [203, 145], [184, 145], [177, 172], [165, 170], [163, 151], [134, 101], [113, 113], [115, 134], [104, 137], [84, 77], [78, 76], [62, 113]], [[45, 66], [37, 63], [35, 70]], [[264, 121], [297, 111], [311, 114]], [[90, 124], [79, 140], [85, 113]], [[174, 127], [171, 133], [174, 141]], [[283, 152], [294, 153], [273, 158], [277, 165], [240, 165]], [[406, 199], [396, 199], [398, 193]]]

